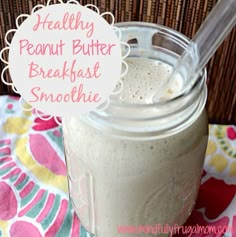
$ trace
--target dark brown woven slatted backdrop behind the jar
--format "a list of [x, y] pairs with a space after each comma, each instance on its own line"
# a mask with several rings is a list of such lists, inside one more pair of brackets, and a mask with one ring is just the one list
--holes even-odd
[[[0, 0], [0, 48], [5, 47], [7, 30], [15, 28], [15, 19], [29, 13], [46, 0]], [[56, 0], [51, 1], [57, 2]], [[110, 11], [117, 22], [147, 21], [169, 26], [192, 38], [216, 0], [91, 0], [101, 12]], [[0, 64], [0, 71], [3, 69]], [[7, 75], [10, 80], [9, 75]], [[227, 37], [208, 64], [208, 103], [210, 122], [236, 124], [236, 28]], [[1, 94], [12, 94], [0, 82]]]

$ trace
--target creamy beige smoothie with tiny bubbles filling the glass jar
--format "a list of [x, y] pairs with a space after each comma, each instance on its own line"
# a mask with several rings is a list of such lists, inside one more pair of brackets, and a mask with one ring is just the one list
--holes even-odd
[[[151, 104], [171, 66], [134, 57], [127, 63], [118, 99]], [[168, 100], [182, 86], [176, 77], [161, 99]], [[155, 139], [126, 139], [113, 136], [112, 129], [65, 119], [70, 196], [82, 225], [97, 237], [158, 236], [155, 229], [149, 235], [119, 234], [120, 226], [182, 225], [195, 203], [207, 144], [206, 115], [199, 115], [182, 129]], [[148, 127], [143, 129], [148, 134]]]

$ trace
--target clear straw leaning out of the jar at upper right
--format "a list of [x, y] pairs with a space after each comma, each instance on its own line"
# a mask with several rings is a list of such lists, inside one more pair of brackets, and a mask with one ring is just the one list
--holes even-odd
[[[163, 90], [173, 80], [174, 75], [183, 74], [183, 70], [187, 76], [187, 83], [178, 95], [189, 90], [235, 24], [236, 0], [219, 0], [192, 39], [189, 47], [179, 58], [172, 74], [165, 82]], [[155, 96], [157, 100], [163, 90]]]

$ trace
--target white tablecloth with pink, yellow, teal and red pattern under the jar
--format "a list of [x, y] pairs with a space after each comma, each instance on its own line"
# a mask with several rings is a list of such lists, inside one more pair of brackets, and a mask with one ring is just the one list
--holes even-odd
[[[236, 237], [236, 126], [209, 129], [202, 184], [185, 225], [228, 225], [225, 236]], [[61, 127], [1, 96], [0, 237], [87, 236], [67, 191]]]

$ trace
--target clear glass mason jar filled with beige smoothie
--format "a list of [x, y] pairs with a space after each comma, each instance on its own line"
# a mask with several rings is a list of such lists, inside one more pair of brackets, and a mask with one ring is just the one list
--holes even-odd
[[[123, 41], [130, 43], [131, 58], [173, 67], [189, 45], [184, 35], [163, 26], [140, 22], [117, 26]], [[185, 71], [194, 63], [190, 58]], [[148, 80], [148, 67], [140, 65], [136, 74], [145, 74]], [[188, 81], [184, 73], [182, 77], [184, 88]], [[123, 227], [132, 226], [133, 234], [132, 230], [122, 234], [132, 237], [143, 226], [152, 226], [149, 234], [155, 236], [158, 224], [186, 221], [197, 197], [207, 146], [206, 98], [203, 70], [177, 97], [129, 103], [118, 95], [105, 111], [63, 119], [69, 194], [90, 233], [116, 237]]]

